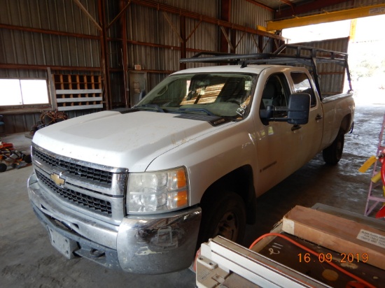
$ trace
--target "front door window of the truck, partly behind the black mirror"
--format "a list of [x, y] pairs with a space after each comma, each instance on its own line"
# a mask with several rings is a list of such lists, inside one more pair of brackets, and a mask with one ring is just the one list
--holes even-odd
[[[265, 109], [267, 106], [288, 106], [288, 97], [290, 90], [285, 75], [276, 73], [271, 75], [267, 81], [262, 92], [262, 102], [260, 109]], [[275, 111], [274, 116], [283, 116], [286, 113]]]

